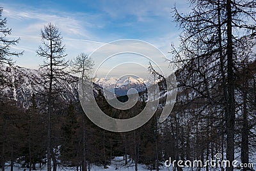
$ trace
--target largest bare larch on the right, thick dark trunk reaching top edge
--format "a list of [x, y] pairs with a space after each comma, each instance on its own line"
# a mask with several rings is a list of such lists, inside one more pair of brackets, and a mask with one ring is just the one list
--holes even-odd
[[[184, 30], [180, 36], [181, 50], [185, 50], [185, 53], [183, 52], [182, 55], [177, 53], [176, 56], [180, 57], [179, 62], [187, 68], [193, 69], [194, 66], [191, 64], [196, 59], [199, 61], [211, 60], [211, 63], [205, 63], [208, 68], [217, 66], [217, 70], [210, 74], [215, 75], [216, 81], [220, 80], [220, 82], [216, 82], [216, 85], [223, 89], [221, 96], [225, 102], [222, 106], [225, 111], [223, 120], [227, 135], [227, 160], [233, 161], [237, 79], [235, 72], [236, 60], [239, 56], [234, 45], [235, 42], [240, 41], [239, 46], [243, 46], [244, 42], [241, 41], [241, 36], [255, 34], [256, 3], [244, 0], [191, 0], [189, 2], [191, 3], [191, 12], [188, 15], [180, 15], [175, 8], [175, 20]], [[198, 43], [200, 46], [197, 46]], [[191, 59], [191, 56], [194, 57]], [[200, 69], [197, 70], [197, 73], [201, 74]], [[218, 74], [221, 77], [217, 77]], [[214, 89], [211, 91], [213, 92]], [[211, 100], [211, 96], [206, 96], [206, 98]], [[218, 101], [213, 102], [219, 103]], [[230, 166], [227, 170], [233, 170], [233, 167]]]

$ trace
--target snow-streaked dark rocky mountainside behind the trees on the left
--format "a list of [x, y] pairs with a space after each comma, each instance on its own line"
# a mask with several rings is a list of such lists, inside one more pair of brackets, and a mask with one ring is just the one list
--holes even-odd
[[[15, 100], [24, 107], [29, 107], [33, 94], [36, 98], [45, 92], [44, 70], [32, 70], [20, 66], [0, 66], [1, 80], [8, 82], [8, 85], [0, 88], [0, 100]], [[0, 82], [1, 82], [0, 80]], [[69, 82], [68, 80], [73, 80]], [[65, 75], [63, 80], [56, 82], [55, 89], [60, 90], [58, 99], [63, 101], [79, 101], [78, 96], [78, 77]], [[97, 89], [102, 89], [95, 85], [95, 94]]]

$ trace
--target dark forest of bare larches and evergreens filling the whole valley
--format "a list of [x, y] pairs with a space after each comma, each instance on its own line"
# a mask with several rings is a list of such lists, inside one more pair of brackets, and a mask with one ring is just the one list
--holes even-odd
[[[217, 153], [229, 161], [255, 163], [256, 2], [189, 3], [188, 14], [170, 6], [173, 20], [182, 30], [179, 47], [172, 45], [169, 52], [172, 59], [166, 60], [176, 70], [175, 106], [163, 123], [159, 123], [163, 110], [159, 107], [148, 123], [124, 133], [106, 131], [92, 123], [84, 114], [79, 98], [61, 98], [65, 91], [61, 81], [77, 83], [74, 73], [89, 79], [93, 61], [84, 52], [74, 61], [67, 61], [60, 29], [51, 23], [38, 31], [42, 43], [35, 49], [37, 57], [45, 59], [40, 65], [44, 74], [37, 80], [44, 89], [31, 94], [28, 106], [6, 95], [8, 91], [4, 90], [16, 85], [3, 66], [15, 65], [14, 58], [23, 52], [13, 51], [20, 38], [8, 37], [12, 29], [6, 26], [1, 8], [1, 170], [13, 171], [17, 163], [28, 170], [72, 167], [84, 171], [95, 165], [107, 169], [116, 156], [123, 157], [123, 167], [137, 171], [138, 165], [145, 165], [148, 170], [161, 170], [169, 158], [206, 161], [214, 160]], [[161, 79], [158, 84], [160, 91], [164, 91], [166, 80], [154, 70], [149, 71]], [[95, 92], [95, 100], [105, 114], [118, 119], [140, 114], [147, 103], [141, 100], [129, 110], [118, 110], [108, 104], [101, 89]], [[118, 100], [127, 101], [127, 96]], [[165, 103], [163, 97], [159, 106]], [[174, 171], [184, 170], [177, 164], [172, 167]], [[255, 167], [206, 165], [188, 169], [232, 171]]]

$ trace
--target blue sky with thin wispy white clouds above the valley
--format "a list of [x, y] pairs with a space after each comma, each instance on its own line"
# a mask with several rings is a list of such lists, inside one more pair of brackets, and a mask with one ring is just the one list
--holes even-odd
[[23, 56], [14, 59], [16, 64], [32, 69], [44, 61], [36, 56], [36, 50], [41, 44], [40, 30], [49, 22], [60, 29], [68, 60], [81, 52], [90, 55], [102, 45], [122, 39], [146, 41], [170, 58], [170, 45], [179, 45], [180, 33], [173, 22], [173, 7], [181, 13], [188, 8], [186, 0], [4, 0], [0, 6], [7, 26], [12, 28], [10, 38], [20, 38], [13, 49], [24, 50]]

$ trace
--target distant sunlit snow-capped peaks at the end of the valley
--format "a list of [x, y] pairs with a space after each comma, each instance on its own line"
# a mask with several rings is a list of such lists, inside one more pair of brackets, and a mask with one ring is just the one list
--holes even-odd
[[138, 93], [147, 90], [147, 80], [143, 78], [133, 78], [133, 77], [123, 77], [116, 78], [111, 77], [107, 78], [95, 78], [95, 84], [104, 87], [104, 89], [115, 93], [116, 96], [125, 96], [128, 93], [128, 90], [134, 88]]

